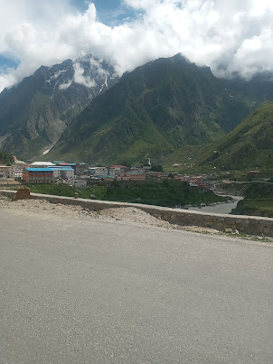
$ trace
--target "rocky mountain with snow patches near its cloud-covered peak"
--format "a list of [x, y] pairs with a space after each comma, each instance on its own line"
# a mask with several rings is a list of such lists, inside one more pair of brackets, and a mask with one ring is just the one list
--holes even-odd
[[0, 147], [31, 159], [52, 148], [73, 117], [118, 80], [90, 55], [36, 70], [0, 94]]

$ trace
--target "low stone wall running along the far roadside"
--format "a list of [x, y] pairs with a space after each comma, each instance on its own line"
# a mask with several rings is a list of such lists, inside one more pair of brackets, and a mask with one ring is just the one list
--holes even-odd
[[[16, 191], [0, 190], [0, 193], [13, 199]], [[84, 209], [96, 211], [110, 208], [134, 207], [135, 209], [144, 210], [156, 218], [169, 221], [176, 225], [198, 226], [202, 228], [217, 229], [220, 231], [232, 229], [249, 235], [264, 235], [266, 237], [273, 237], [273, 219], [270, 218], [168, 209], [160, 206], [144, 205], [140, 203], [73, 199], [71, 197], [45, 195], [41, 193], [31, 193], [31, 199], [45, 200], [51, 203], [62, 203], [64, 205], [77, 205]]]

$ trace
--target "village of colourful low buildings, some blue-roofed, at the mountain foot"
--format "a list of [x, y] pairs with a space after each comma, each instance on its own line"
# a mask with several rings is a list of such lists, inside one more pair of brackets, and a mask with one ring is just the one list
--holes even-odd
[[[175, 166], [175, 164], [174, 164]], [[159, 167], [159, 168], [156, 168]], [[90, 166], [87, 163], [65, 163], [64, 161], [24, 163], [14, 156], [13, 165], [0, 165], [0, 182], [12, 184], [66, 184], [71, 187], [84, 188], [94, 182], [132, 181], [161, 182], [174, 179], [188, 182], [198, 189], [213, 189], [209, 175], [182, 175], [164, 172], [161, 166], [126, 165]]]

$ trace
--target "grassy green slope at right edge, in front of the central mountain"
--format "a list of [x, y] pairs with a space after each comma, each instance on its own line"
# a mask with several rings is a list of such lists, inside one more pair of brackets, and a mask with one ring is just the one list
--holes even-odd
[[224, 170], [273, 169], [273, 102], [259, 107], [213, 145], [201, 164]]

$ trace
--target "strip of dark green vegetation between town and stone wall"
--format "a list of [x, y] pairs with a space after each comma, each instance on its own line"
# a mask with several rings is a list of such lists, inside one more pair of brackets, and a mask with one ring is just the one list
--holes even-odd
[[[75, 192], [82, 199], [90, 195], [99, 200], [145, 203], [151, 205], [174, 207], [188, 204], [201, 205], [227, 198], [217, 196], [212, 191], [199, 191], [191, 188], [186, 182], [166, 180], [165, 182], [109, 182], [89, 186], [86, 189], [75, 189], [67, 185], [38, 184], [29, 186], [32, 192], [73, 197]], [[92, 199], [94, 197], [91, 197]]]

